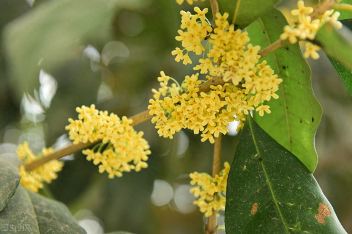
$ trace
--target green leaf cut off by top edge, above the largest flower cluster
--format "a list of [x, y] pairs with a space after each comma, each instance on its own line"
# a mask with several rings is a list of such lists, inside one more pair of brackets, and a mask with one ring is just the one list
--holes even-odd
[[280, 0], [218, 0], [221, 13], [229, 14], [228, 21], [243, 29]]

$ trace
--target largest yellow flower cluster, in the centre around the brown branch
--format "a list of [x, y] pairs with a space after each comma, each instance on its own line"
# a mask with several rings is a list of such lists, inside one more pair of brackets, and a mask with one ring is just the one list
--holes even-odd
[[[261, 116], [264, 111], [270, 113], [269, 106], [263, 105], [263, 102], [278, 98], [275, 92], [282, 79], [274, 75], [266, 61], [257, 64], [260, 47], [251, 44], [245, 46], [250, 40], [247, 33], [234, 30], [234, 25], [229, 25], [227, 21], [227, 13], [216, 14], [216, 28], [212, 30], [205, 18], [208, 9], [201, 11], [195, 7], [194, 10], [196, 15], [181, 12], [181, 28], [187, 28], [187, 32], [179, 30], [180, 36], [176, 36], [176, 40], [182, 41], [183, 50], [187, 50], [187, 53], [183, 54], [183, 50], [176, 48], [172, 54], [177, 55], [176, 61], [184, 60], [187, 64], [191, 63], [189, 51], [196, 54], [207, 52], [208, 58], [204, 59], [203, 54], [200, 64], [194, 69], [200, 69], [201, 74], [209, 72], [209, 75], [217, 75], [229, 83], [210, 86], [212, 90], [205, 93], [199, 92], [199, 86], [205, 81], [198, 80], [198, 73], [186, 76], [179, 85], [174, 78], [161, 72], [158, 77], [161, 87], [158, 90], [152, 89], [155, 100], [150, 99], [151, 105], [148, 108], [150, 115], [155, 115], [152, 122], [156, 123], [155, 128], [160, 136], [172, 138], [175, 132], [189, 128], [195, 134], [202, 132], [201, 141], [214, 143], [213, 136], [228, 133], [228, 122], [234, 119], [241, 121], [237, 128], [239, 131], [250, 110], [256, 109]], [[208, 38], [208, 44], [203, 47], [201, 41]], [[220, 65], [213, 64], [216, 62]], [[207, 79], [212, 78], [209, 75]], [[168, 86], [169, 80], [174, 81], [171, 86]], [[164, 96], [163, 100], [160, 100], [161, 96]], [[236, 118], [233, 117], [235, 115]]]

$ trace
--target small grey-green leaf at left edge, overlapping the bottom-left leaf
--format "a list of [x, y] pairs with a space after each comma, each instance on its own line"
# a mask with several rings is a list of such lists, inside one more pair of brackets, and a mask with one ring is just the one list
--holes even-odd
[[8, 200], [16, 192], [21, 176], [18, 174], [18, 166], [0, 157], [0, 211], [5, 208]]

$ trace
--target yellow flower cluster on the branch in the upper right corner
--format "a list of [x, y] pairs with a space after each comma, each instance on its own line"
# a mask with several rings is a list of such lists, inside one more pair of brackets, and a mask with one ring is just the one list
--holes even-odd
[[[325, 24], [329, 22], [336, 28], [341, 28], [342, 24], [337, 18], [340, 16], [340, 12], [334, 12], [333, 9], [324, 12], [318, 18], [312, 20], [309, 14], [313, 13], [312, 7], [305, 7], [304, 1], [297, 1], [298, 9], [291, 11], [291, 15], [298, 16], [298, 20], [295, 22], [294, 27], [286, 25], [283, 30], [284, 32], [280, 35], [281, 40], [288, 39], [291, 44], [295, 44], [297, 40], [314, 40], [316, 32]], [[306, 43], [306, 51], [304, 57], [312, 59], [319, 59], [319, 54], [316, 52], [320, 49], [319, 46], [313, 45], [311, 42]]]

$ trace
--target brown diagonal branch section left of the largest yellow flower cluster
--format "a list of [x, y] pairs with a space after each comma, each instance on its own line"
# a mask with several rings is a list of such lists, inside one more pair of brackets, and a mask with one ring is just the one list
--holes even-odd
[[[133, 115], [129, 119], [133, 120], [131, 125], [135, 126], [135, 125], [142, 123], [146, 120], [149, 120], [151, 118], [152, 118], [152, 115], [149, 114], [149, 110], [146, 110], [146, 111], [143, 111], [139, 114]], [[27, 171], [31, 171], [39, 166], [42, 166], [43, 164], [45, 164], [51, 160], [60, 159], [66, 155], [73, 154], [77, 151], [88, 148], [89, 146], [95, 145], [96, 143], [99, 143], [100, 141], [101, 140], [95, 141], [95, 142], [79, 143], [77, 145], [74, 145], [71, 143], [69, 146], [67, 146], [65, 148], [59, 149], [58, 151], [55, 151], [52, 154], [49, 154], [45, 157], [41, 157], [35, 161], [32, 161], [31, 163], [26, 164], [25, 169]]]

